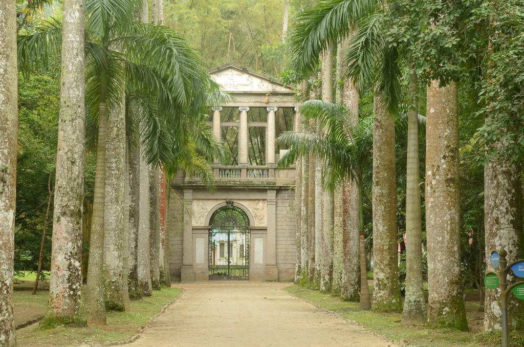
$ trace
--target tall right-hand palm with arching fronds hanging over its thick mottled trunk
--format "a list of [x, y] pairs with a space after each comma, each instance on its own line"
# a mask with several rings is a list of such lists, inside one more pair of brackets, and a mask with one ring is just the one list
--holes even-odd
[[[346, 76], [358, 83], [376, 82], [374, 107], [373, 231], [377, 258], [374, 310], [400, 311], [396, 244], [395, 126], [392, 117], [400, 105], [400, 70], [397, 47], [380, 37], [382, 15], [373, 15], [377, 1], [332, 0], [300, 16], [291, 36], [296, 66], [308, 73], [330, 45], [356, 31], [346, 55]], [[361, 92], [364, 90], [360, 86]]]

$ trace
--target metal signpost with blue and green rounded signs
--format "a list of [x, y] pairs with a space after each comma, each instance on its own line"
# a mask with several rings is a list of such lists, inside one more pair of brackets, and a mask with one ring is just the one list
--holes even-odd
[[510, 291], [518, 299], [524, 299], [524, 281], [517, 282], [508, 287], [508, 273], [512, 271], [515, 276], [524, 278], [524, 259], [510, 263], [506, 260], [507, 252], [505, 250], [493, 251], [490, 254], [489, 262], [494, 267], [500, 266], [500, 271], [490, 271], [486, 273], [484, 285], [488, 289], [500, 288], [500, 306], [502, 308], [502, 347], [509, 347], [508, 333], [508, 294]]

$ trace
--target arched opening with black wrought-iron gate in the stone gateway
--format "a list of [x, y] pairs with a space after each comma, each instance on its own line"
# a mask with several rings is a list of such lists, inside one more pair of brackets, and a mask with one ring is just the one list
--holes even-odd
[[249, 219], [242, 209], [226, 205], [209, 221], [209, 279], [249, 279]]

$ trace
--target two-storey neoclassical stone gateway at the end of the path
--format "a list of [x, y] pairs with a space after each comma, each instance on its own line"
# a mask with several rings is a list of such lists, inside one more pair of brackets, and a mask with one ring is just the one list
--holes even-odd
[[170, 183], [171, 278], [292, 281], [295, 170], [276, 169], [286, 148], [275, 139], [296, 129], [294, 91], [233, 63], [210, 73], [234, 97], [209, 113], [227, 153], [214, 160], [214, 194], [183, 171]]

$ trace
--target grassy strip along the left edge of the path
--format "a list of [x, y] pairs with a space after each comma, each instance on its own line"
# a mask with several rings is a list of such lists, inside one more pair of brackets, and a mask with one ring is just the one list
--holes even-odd
[[132, 337], [138, 328], [155, 316], [162, 306], [169, 303], [182, 292], [178, 288], [162, 288], [153, 296], [131, 302], [129, 312], [108, 312], [107, 326], [63, 328], [39, 330], [38, 324], [17, 330], [17, 346], [71, 346], [79, 344], [105, 343], [125, 340]]

